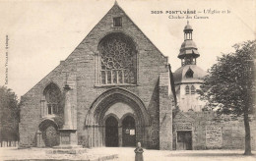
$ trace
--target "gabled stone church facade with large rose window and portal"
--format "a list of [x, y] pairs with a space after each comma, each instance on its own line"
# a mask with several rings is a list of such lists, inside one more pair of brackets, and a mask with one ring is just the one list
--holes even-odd
[[167, 58], [115, 3], [22, 96], [20, 146], [172, 149], [171, 79]]

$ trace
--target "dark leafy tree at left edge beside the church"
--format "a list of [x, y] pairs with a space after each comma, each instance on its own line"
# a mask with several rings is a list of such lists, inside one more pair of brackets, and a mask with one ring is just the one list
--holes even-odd
[[15, 92], [0, 86], [0, 140], [19, 139], [20, 110]]

